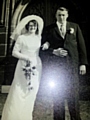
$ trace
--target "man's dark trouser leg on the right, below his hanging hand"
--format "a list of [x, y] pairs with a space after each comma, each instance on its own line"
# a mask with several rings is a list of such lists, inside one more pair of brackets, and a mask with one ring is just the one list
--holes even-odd
[[78, 66], [71, 66], [69, 69], [67, 87], [67, 102], [71, 120], [81, 120], [79, 110], [79, 77]]

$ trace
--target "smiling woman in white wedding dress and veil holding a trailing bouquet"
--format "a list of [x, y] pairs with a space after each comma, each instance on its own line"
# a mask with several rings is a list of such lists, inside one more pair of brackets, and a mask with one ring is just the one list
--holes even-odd
[[1, 120], [32, 120], [42, 71], [39, 57], [42, 30], [42, 18], [29, 15], [21, 20], [11, 35], [16, 40], [12, 55], [18, 58], [18, 63]]

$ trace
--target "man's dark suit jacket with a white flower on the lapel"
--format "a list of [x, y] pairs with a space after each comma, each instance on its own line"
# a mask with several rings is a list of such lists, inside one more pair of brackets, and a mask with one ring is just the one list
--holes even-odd
[[[73, 29], [72, 33], [71, 29]], [[45, 41], [50, 43], [48, 52], [61, 47], [68, 51], [71, 62], [82, 65], [88, 64], [85, 41], [78, 24], [67, 22], [65, 39], [61, 37], [56, 24], [46, 27], [45, 34], [43, 33], [42, 44]]]

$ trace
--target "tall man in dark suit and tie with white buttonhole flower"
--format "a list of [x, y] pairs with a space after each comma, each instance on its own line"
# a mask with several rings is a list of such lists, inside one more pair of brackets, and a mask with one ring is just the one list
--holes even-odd
[[56, 23], [48, 26], [43, 36], [42, 50], [48, 55], [47, 63], [44, 62], [44, 69], [48, 72], [45, 75], [52, 78], [55, 84], [52, 92], [54, 120], [65, 120], [65, 99], [71, 120], [81, 120], [78, 74], [86, 74], [87, 53], [79, 25], [67, 21], [68, 16], [68, 10], [59, 7]]

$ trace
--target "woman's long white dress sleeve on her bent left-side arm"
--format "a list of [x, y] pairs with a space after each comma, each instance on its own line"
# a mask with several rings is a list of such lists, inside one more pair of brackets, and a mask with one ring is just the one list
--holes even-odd
[[22, 40], [21, 40], [21, 37], [18, 37], [12, 51], [12, 56], [21, 60], [29, 60], [27, 55], [21, 53], [21, 47], [22, 47]]

